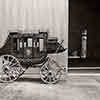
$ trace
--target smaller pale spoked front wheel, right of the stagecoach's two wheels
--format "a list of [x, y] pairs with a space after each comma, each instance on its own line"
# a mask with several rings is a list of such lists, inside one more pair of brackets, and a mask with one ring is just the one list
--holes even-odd
[[40, 76], [43, 82], [48, 84], [56, 83], [60, 80], [61, 71], [57, 64], [48, 60], [40, 70]]

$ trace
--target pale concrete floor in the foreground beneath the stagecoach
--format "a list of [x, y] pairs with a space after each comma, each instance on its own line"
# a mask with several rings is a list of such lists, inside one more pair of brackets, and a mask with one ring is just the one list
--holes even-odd
[[0, 83], [0, 100], [100, 100], [100, 76], [68, 74], [53, 85], [24, 76], [14, 83]]

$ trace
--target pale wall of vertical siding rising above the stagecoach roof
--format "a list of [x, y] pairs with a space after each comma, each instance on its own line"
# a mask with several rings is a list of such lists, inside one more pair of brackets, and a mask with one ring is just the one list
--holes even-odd
[[68, 0], [0, 0], [0, 46], [15, 30], [49, 30], [68, 47]]

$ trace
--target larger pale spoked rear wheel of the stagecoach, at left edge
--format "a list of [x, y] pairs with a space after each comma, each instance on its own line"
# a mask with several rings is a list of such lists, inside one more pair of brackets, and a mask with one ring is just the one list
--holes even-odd
[[12, 82], [16, 80], [21, 71], [20, 62], [12, 55], [0, 57], [0, 81]]

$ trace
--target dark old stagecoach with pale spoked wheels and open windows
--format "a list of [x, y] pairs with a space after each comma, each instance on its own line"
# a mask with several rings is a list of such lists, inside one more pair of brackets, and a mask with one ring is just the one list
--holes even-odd
[[29, 67], [40, 68], [43, 82], [58, 82], [62, 68], [48, 54], [64, 52], [61, 44], [57, 38], [48, 37], [47, 32], [10, 32], [0, 48], [0, 82], [17, 80]]

